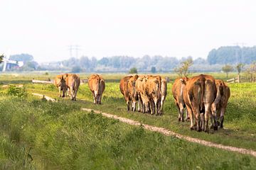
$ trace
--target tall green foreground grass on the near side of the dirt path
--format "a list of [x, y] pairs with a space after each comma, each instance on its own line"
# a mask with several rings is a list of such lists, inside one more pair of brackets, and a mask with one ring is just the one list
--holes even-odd
[[[255, 169], [256, 166], [254, 157], [204, 147], [93, 112], [82, 112], [75, 102], [2, 96], [0, 110], [1, 169]], [[30, 147], [32, 162], [27, 158]]]

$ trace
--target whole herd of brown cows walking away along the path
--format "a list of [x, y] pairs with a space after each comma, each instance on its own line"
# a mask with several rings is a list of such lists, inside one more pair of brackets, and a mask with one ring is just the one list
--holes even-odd
[[[54, 81], [60, 97], [70, 96], [76, 101], [80, 77], [77, 74], [58, 75]], [[98, 74], [88, 77], [88, 86], [92, 91], [95, 104], [101, 104], [105, 91], [105, 80]], [[167, 81], [160, 76], [130, 75], [123, 77], [119, 89], [127, 103], [127, 111], [163, 115], [164, 101], [167, 94]], [[230, 89], [223, 80], [214, 79], [210, 75], [182, 77], [174, 81], [172, 94], [178, 108], [178, 121], [184, 121], [183, 113], [186, 108], [186, 119], [190, 119], [191, 130], [209, 131], [223, 128], [225, 109], [230, 97]], [[136, 106], [137, 105], [137, 106]]]

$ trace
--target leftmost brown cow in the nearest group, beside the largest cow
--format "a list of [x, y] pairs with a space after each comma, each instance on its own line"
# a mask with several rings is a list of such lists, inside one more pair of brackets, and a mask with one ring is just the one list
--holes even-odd
[[[185, 102], [183, 101], [183, 90], [186, 86], [188, 77], [181, 77], [174, 81], [172, 86], [172, 94], [174, 96], [174, 102], [178, 108], [178, 121], [184, 122], [184, 109], [186, 108]], [[188, 120], [188, 111], [186, 111], [186, 120]]]

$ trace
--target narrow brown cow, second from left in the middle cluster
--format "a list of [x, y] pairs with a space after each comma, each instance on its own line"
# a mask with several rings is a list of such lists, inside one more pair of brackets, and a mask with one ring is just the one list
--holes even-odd
[[134, 75], [134, 77], [131, 77], [128, 81], [128, 93], [129, 98], [132, 101], [132, 111], [136, 111], [136, 102], [139, 100], [135, 88], [135, 84], [138, 78], [139, 76], [136, 74]]

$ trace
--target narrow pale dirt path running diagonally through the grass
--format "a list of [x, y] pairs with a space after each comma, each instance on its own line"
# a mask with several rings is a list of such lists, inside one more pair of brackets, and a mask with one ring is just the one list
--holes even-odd
[[[50, 97], [44, 96], [42, 94], [33, 94], [33, 95], [44, 97], [48, 101], [55, 101], [54, 98], [50, 98]], [[93, 109], [90, 109], [90, 108], [82, 108], [82, 111], [90, 112], [92, 110]], [[112, 115], [112, 114], [109, 114], [109, 113], [103, 113], [101, 111], [95, 111], [95, 110], [93, 110], [93, 111], [94, 111], [94, 113], [98, 113], [98, 114], [101, 113], [103, 116], [105, 116], [107, 118], [114, 118], [114, 119], [119, 120], [122, 123], [127, 123], [129, 125], [137, 125], [137, 126], [143, 125], [143, 127], [146, 130], [150, 130], [150, 131], [153, 131], [153, 132], [160, 132], [161, 134], [164, 134], [166, 136], [174, 136], [174, 137], [177, 137], [178, 139], [186, 140], [188, 142], [198, 143], [200, 145], [205, 145], [205, 146], [208, 146], [208, 147], [215, 147], [215, 148], [219, 148], [219, 149], [224, 149], [224, 150], [227, 150], [227, 151], [238, 152], [240, 154], [250, 154], [253, 157], [256, 157], [256, 151], [254, 151], [252, 149], [242, 149], [242, 148], [238, 148], [238, 147], [230, 147], [230, 146], [215, 144], [213, 142], [208, 142], [206, 140], [200, 140], [200, 139], [197, 139], [197, 138], [194, 138], [194, 137], [188, 137], [188, 136], [185, 136], [185, 135], [181, 135], [181, 134], [178, 134], [176, 132], [172, 132], [171, 130], [167, 130], [165, 128], [159, 128], [159, 127], [152, 126], [152, 125], [142, 124], [142, 123], [139, 123], [138, 121], [131, 120], [131, 119], [128, 119], [128, 118], [122, 118], [122, 117], [119, 117], [117, 115]]]

